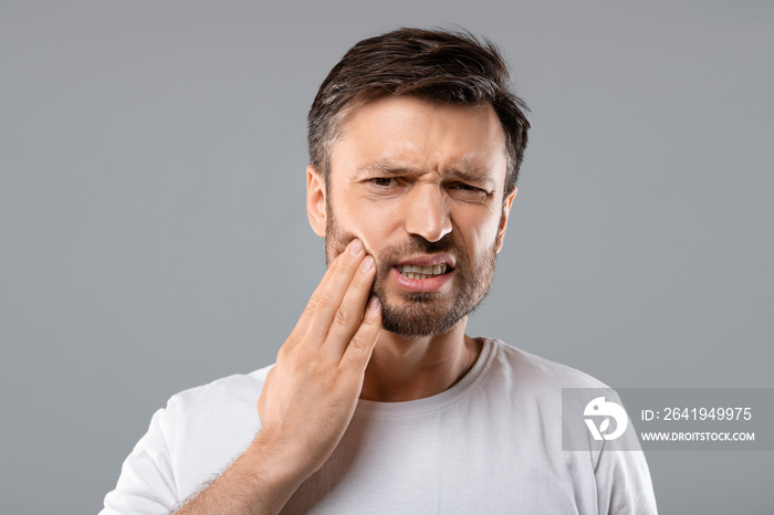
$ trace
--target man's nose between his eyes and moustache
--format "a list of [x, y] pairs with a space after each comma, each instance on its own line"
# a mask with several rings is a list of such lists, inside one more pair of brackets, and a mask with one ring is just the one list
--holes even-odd
[[436, 242], [451, 232], [448, 199], [439, 185], [415, 186], [407, 196], [406, 231]]

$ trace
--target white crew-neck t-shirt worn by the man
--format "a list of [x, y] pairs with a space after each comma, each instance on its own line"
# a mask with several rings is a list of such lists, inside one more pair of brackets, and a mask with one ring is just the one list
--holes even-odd
[[[260, 429], [270, 368], [174, 396], [102, 513], [168, 513], [220, 475]], [[641, 452], [562, 450], [562, 388], [606, 386], [485, 339], [471, 370], [437, 396], [359, 400], [331, 459], [283, 513], [655, 514]]]

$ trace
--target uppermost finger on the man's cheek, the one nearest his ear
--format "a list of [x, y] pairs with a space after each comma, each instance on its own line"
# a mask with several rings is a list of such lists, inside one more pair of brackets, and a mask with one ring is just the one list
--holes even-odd
[[310, 317], [310, 323], [304, 338], [317, 345], [322, 345], [325, 340], [344, 294], [365, 258], [363, 243], [359, 240], [353, 240], [339, 258], [336, 270], [331, 274], [322, 292], [312, 295], [306, 305], [305, 314]]

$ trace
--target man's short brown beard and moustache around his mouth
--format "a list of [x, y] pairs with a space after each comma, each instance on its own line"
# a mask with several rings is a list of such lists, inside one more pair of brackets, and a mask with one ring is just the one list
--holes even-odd
[[[330, 209], [327, 214], [325, 258], [330, 265], [356, 237], [338, 228]], [[363, 243], [365, 245], [365, 241]], [[453, 231], [436, 242], [410, 234], [405, 243], [388, 246], [378, 255], [372, 253], [376, 277], [370, 294], [381, 303], [381, 327], [402, 337], [448, 333], [487, 296], [494, 276], [496, 243], [493, 242], [489, 249], [471, 259], [464, 246], [454, 239]], [[399, 292], [399, 298], [388, 297], [387, 281], [397, 263], [417, 254], [440, 252], [456, 258], [451, 295], [440, 292]]]

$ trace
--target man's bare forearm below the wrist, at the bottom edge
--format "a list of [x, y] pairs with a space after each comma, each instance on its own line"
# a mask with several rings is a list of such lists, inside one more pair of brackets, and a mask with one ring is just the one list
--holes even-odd
[[276, 514], [311, 474], [280, 455], [259, 433], [222, 475], [177, 514]]

